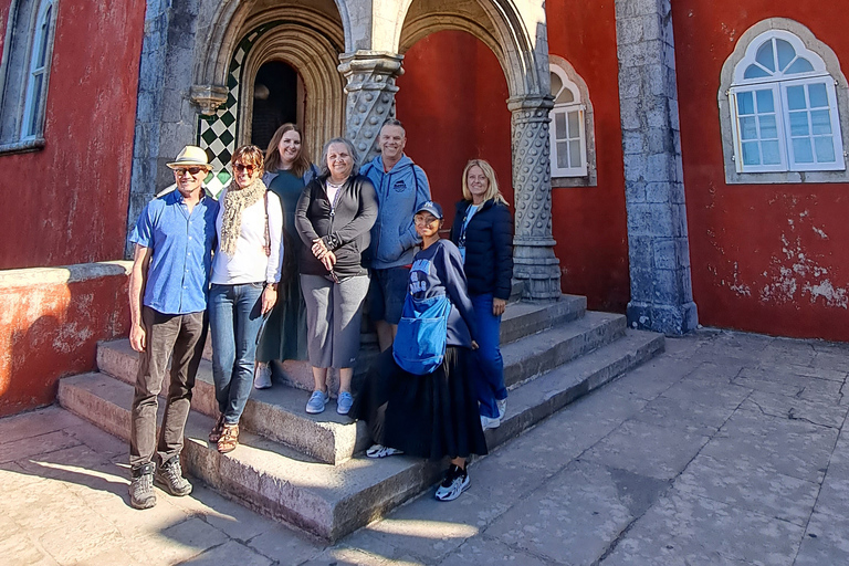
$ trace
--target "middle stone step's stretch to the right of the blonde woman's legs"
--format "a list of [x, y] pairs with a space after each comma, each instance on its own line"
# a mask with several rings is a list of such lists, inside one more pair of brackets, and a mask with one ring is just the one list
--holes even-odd
[[504, 384], [518, 382], [566, 364], [625, 335], [628, 326], [620, 314], [588, 311], [568, 324], [525, 336], [501, 347]]

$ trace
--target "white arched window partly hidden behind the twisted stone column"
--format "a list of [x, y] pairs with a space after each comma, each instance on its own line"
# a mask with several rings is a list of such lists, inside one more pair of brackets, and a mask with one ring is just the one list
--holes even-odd
[[549, 65], [554, 108], [549, 126], [552, 140], [552, 177], [587, 175], [587, 135], [584, 124], [586, 107], [580, 91], [558, 65]]

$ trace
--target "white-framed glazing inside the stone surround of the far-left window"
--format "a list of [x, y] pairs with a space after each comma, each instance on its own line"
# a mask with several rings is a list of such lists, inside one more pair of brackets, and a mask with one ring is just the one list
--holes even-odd
[[[35, 17], [30, 48], [29, 73], [27, 75], [27, 94], [21, 116], [21, 140], [23, 142], [36, 139], [44, 134], [48, 82], [55, 35], [53, 23], [55, 21], [55, 3], [56, 0], [43, 0]], [[44, 53], [42, 57], [39, 57], [39, 55], [42, 55], [42, 48]], [[40, 64], [40, 59], [43, 59], [43, 64]], [[39, 77], [41, 77], [41, 84], [36, 86]]]

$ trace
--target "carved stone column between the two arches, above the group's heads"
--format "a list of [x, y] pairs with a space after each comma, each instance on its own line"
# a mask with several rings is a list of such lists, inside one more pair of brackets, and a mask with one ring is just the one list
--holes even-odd
[[377, 155], [384, 122], [395, 117], [395, 80], [403, 73], [403, 55], [357, 51], [339, 55], [339, 72], [348, 82], [345, 135], [354, 142], [359, 163], [365, 164]]

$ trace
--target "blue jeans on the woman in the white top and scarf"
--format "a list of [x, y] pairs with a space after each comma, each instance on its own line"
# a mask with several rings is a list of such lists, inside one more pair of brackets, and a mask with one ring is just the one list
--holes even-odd
[[239, 422], [253, 387], [264, 286], [264, 283], [213, 284], [209, 291], [212, 378], [218, 410], [228, 424]]

